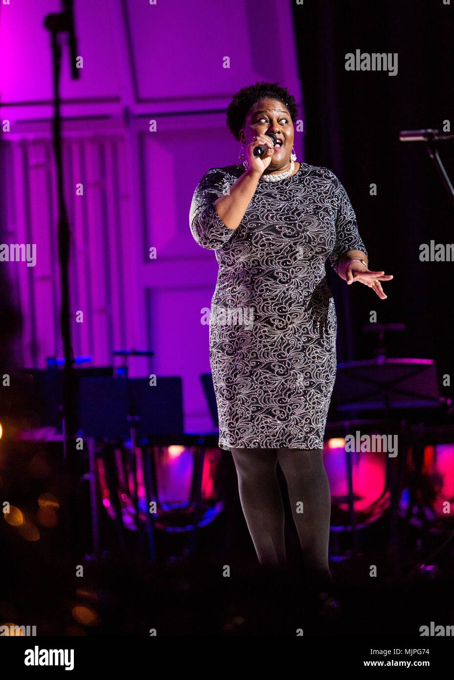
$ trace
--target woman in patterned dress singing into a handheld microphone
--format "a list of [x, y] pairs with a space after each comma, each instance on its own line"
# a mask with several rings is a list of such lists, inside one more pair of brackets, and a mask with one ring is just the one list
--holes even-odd
[[[332, 575], [322, 449], [337, 327], [324, 266], [329, 258], [347, 284], [360, 282], [380, 299], [386, 298], [380, 282], [392, 276], [368, 270], [355, 213], [336, 175], [295, 163], [297, 116], [294, 97], [277, 83], [257, 82], [234, 95], [227, 124], [241, 141], [244, 163], [203, 175], [190, 228], [219, 262], [209, 327], [219, 445], [232, 453], [258, 560], [285, 564], [279, 462], [304, 565], [324, 598]], [[267, 133], [276, 135], [275, 146]], [[263, 144], [266, 153], [254, 156]]]

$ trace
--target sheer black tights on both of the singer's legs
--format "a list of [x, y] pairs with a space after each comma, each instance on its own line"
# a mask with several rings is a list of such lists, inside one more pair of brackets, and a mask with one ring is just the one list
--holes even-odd
[[284, 508], [277, 479], [287, 481], [304, 566], [323, 588], [332, 585], [328, 566], [331, 497], [321, 449], [232, 449], [241, 507], [260, 564], [286, 563]]

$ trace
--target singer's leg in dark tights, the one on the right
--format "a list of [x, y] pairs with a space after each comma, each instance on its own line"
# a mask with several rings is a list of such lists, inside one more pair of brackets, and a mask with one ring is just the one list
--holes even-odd
[[331, 496], [323, 452], [321, 449], [277, 449], [277, 460], [287, 481], [304, 565], [322, 590], [330, 588]]

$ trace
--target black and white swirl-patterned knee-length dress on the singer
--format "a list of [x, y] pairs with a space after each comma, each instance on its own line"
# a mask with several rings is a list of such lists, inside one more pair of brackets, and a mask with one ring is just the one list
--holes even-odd
[[219, 445], [321, 449], [337, 330], [324, 265], [337, 271], [345, 252], [367, 251], [345, 188], [307, 163], [279, 182], [260, 178], [229, 229], [213, 204], [243, 171], [209, 169], [190, 208], [192, 236], [219, 262], [209, 326]]

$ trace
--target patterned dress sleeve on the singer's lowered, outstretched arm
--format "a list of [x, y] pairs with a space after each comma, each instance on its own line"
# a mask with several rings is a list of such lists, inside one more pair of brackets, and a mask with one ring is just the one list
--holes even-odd
[[357, 229], [356, 215], [347, 196], [347, 192], [338, 178], [332, 173], [334, 196], [336, 197], [336, 241], [330, 254], [330, 262], [336, 273], [340, 258], [349, 250], [362, 250], [368, 255], [360, 233]]

